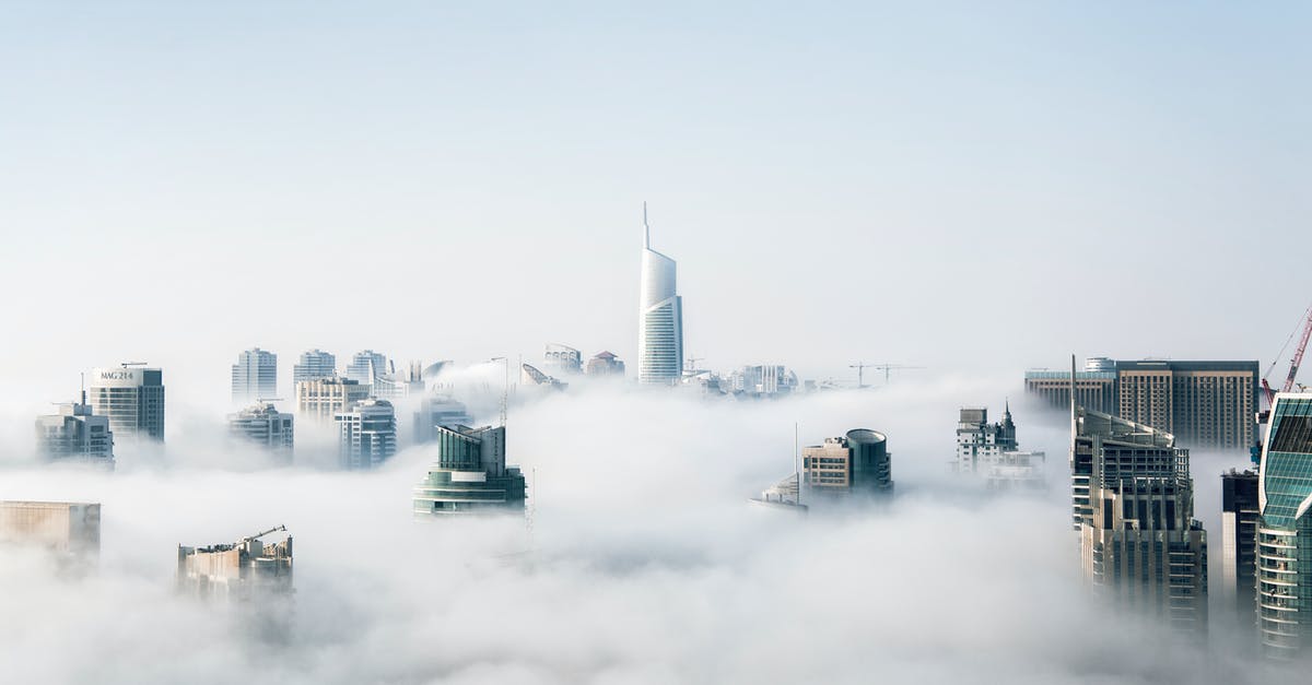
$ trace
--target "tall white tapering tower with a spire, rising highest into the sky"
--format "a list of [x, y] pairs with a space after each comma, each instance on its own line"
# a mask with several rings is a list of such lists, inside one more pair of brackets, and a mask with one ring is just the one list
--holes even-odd
[[674, 260], [651, 247], [643, 205], [643, 278], [638, 311], [638, 382], [674, 384], [684, 371], [684, 298]]

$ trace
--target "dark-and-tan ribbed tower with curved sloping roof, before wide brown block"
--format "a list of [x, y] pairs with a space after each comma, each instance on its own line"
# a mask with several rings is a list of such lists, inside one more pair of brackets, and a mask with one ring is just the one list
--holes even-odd
[[1206, 631], [1207, 533], [1194, 518], [1189, 450], [1169, 433], [1084, 407], [1072, 419], [1085, 579], [1179, 631]]

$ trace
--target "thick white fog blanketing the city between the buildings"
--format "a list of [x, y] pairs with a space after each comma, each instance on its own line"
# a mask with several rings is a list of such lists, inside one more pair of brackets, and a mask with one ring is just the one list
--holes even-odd
[[[114, 474], [21, 461], [0, 472], [0, 499], [104, 504], [88, 577], [0, 551], [0, 664], [13, 682], [1256, 678], [1215, 597], [1203, 650], [1086, 594], [1065, 419], [1018, 390], [942, 377], [753, 403], [622, 383], [521, 395], [508, 449], [529, 474], [530, 516], [489, 520], [412, 518], [425, 447], [375, 472], [300, 465], [329, 442], [298, 449], [297, 466], [261, 467], [258, 453], [216, 449], [195, 428], [218, 425], [220, 407], [174, 417], [193, 428], [161, 454], [121, 450]], [[1000, 412], [1008, 394], [1022, 447], [1048, 454], [1043, 495], [991, 496], [947, 474], [958, 407]], [[893, 503], [807, 517], [749, 505], [791, 472], [794, 423], [803, 445], [884, 432]], [[1195, 458], [1200, 491], [1227, 459]], [[1199, 513], [1215, 521], [1206, 499]], [[285, 644], [173, 592], [176, 545], [278, 524], [295, 538]]]

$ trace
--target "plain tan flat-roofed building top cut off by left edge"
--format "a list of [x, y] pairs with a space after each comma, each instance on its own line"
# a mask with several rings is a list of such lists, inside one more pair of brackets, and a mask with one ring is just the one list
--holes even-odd
[[81, 570], [100, 555], [100, 504], [0, 501], [0, 543], [41, 547]]

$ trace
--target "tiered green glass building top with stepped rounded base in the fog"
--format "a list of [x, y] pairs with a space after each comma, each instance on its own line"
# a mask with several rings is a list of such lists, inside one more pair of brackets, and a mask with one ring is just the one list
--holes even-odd
[[415, 513], [523, 512], [525, 479], [505, 465], [505, 426], [437, 426], [437, 463], [415, 487]]

